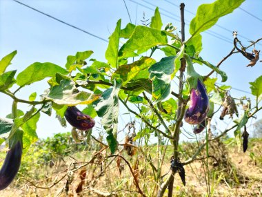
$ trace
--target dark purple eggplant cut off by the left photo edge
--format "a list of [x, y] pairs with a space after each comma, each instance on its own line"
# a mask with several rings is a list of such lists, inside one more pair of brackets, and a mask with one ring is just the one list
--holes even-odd
[[19, 171], [22, 157], [22, 143], [17, 141], [16, 144], [8, 151], [6, 159], [0, 170], [0, 190], [10, 185]]

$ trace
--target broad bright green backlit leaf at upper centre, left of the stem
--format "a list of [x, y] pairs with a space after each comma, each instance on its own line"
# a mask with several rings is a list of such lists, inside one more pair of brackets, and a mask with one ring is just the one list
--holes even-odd
[[[120, 48], [119, 57], [134, 57], [137, 53], [143, 53], [153, 46], [165, 44], [168, 44], [168, 38], [164, 31], [147, 26], [136, 26], [130, 39]], [[137, 53], [134, 53], [135, 50]]]

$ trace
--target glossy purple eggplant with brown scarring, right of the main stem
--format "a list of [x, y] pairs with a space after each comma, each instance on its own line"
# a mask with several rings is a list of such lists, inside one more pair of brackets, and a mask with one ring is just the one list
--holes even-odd
[[205, 86], [203, 86], [198, 79], [196, 89], [191, 89], [190, 106], [185, 111], [185, 122], [189, 124], [200, 124], [205, 120], [209, 109], [210, 104]]

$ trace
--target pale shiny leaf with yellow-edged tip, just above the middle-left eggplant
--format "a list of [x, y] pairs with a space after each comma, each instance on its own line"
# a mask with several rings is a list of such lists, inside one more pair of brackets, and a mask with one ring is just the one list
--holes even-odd
[[59, 105], [75, 106], [77, 104], [91, 104], [99, 98], [99, 95], [79, 91], [74, 81], [64, 79], [58, 86], [53, 86], [48, 95], [43, 95], [43, 97]]

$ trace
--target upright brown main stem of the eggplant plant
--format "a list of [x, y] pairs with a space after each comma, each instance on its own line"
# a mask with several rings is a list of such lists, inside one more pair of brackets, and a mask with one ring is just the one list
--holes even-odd
[[[185, 4], [180, 4], [180, 15], [181, 15], [181, 40], [185, 41], [185, 19], [184, 19], [184, 8]], [[185, 71], [185, 60], [181, 59], [181, 68], [179, 74], [179, 95], [181, 95], [183, 91], [183, 73]], [[174, 160], [179, 159], [179, 134], [180, 134], [180, 126], [183, 119], [183, 113], [185, 112], [185, 104], [183, 104], [182, 100], [178, 102], [177, 109], [177, 122], [174, 129]], [[173, 185], [174, 185], [174, 174], [176, 173], [175, 169], [172, 168], [172, 175], [170, 177], [170, 182], [168, 184], [168, 197], [172, 197], [173, 194]]]

